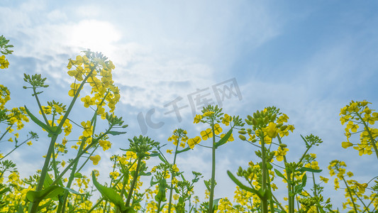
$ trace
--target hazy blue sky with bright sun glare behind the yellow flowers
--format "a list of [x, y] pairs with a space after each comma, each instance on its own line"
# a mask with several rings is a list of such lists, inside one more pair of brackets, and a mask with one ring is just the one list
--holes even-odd
[[[0, 83], [11, 90], [9, 107], [26, 103], [38, 113], [30, 91], [22, 89], [24, 72], [48, 77], [50, 87], [41, 96], [44, 103], [55, 99], [68, 104], [72, 82], [65, 67], [68, 58], [90, 48], [113, 60], [113, 77], [121, 89], [116, 114], [129, 127], [126, 135], [111, 138], [111, 150], [96, 153], [102, 157], [99, 165], [86, 170], [87, 175], [100, 170], [103, 182], [109, 182], [105, 171], [111, 166], [106, 158], [121, 153], [118, 148], [128, 146], [127, 138], [142, 133], [140, 112], [155, 109], [152, 121], [165, 122], [160, 129], [148, 129], [147, 136], [155, 141], [169, 143], [167, 138], [177, 128], [197, 136], [205, 127], [193, 124], [191, 107], [180, 111], [179, 122], [174, 113], [165, 114], [172, 110], [165, 104], [182, 97], [177, 104], [187, 105], [187, 95], [196, 89], [211, 93], [213, 85], [233, 78], [242, 99], [225, 99], [224, 112], [244, 118], [257, 109], [277, 106], [296, 128], [284, 139], [290, 160], [298, 160], [304, 152], [300, 134], [313, 133], [324, 141], [310, 151], [318, 156], [321, 175], [328, 177], [328, 163], [338, 159], [345, 161], [356, 180], [367, 182], [377, 175], [377, 159], [341, 148], [346, 138], [339, 112], [352, 99], [367, 99], [378, 108], [377, 9], [377, 1], [2, 0], [0, 34], [15, 48], [7, 57], [9, 69], [1, 70]], [[216, 101], [214, 93], [211, 97]], [[72, 117], [88, 120], [91, 111], [78, 109]], [[40, 140], [11, 155], [24, 177], [42, 167], [48, 148], [45, 132], [33, 125], [26, 128], [37, 131]], [[3, 144], [2, 152], [11, 148]], [[235, 184], [226, 170], [235, 172], [239, 165], [246, 168], [250, 160], [256, 162], [254, 152], [239, 139], [218, 149], [215, 197], [232, 200]], [[198, 146], [179, 155], [177, 164], [187, 177], [196, 170], [209, 180], [211, 151]], [[324, 186], [329, 189], [325, 196], [340, 207], [343, 190], [335, 192], [333, 182]], [[203, 181], [195, 192], [204, 197]]]

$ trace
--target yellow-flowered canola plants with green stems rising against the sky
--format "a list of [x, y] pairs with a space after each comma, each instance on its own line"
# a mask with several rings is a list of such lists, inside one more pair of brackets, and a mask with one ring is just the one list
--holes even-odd
[[[1, 35], [1, 72], [9, 67], [6, 55], [13, 53], [11, 48], [13, 45]], [[111, 181], [99, 182], [98, 170], [83, 174], [82, 168], [86, 164], [97, 165], [101, 157], [96, 151], [109, 150], [109, 136], [122, 135], [128, 127], [121, 116], [113, 114], [120, 99], [112, 80], [115, 65], [101, 53], [88, 50], [69, 59], [67, 69], [72, 77], [70, 103], [41, 101], [42, 93], [48, 92], [44, 90], [49, 87], [46, 78], [24, 75], [23, 88], [35, 98], [39, 114], [29, 111], [26, 103], [8, 109], [6, 103], [11, 95], [6, 85], [0, 84], [0, 141], [14, 145], [11, 150], [0, 149], [0, 212], [378, 212], [378, 176], [369, 182], [353, 180], [352, 171], [340, 160], [332, 160], [328, 168], [319, 168], [316, 154], [311, 153], [313, 146], [323, 143], [318, 136], [301, 136], [306, 144], [301, 158], [294, 162], [287, 159], [290, 147], [285, 136], [294, 132], [294, 125], [277, 107], [257, 110], [246, 118], [228, 115], [217, 106], [204, 107], [194, 117], [194, 125], [203, 123], [208, 128], [194, 138], [188, 138], [184, 129], [175, 129], [172, 136], [167, 136], [174, 150], [163, 148], [153, 138], [129, 138], [123, 155], [111, 156]], [[84, 89], [89, 89], [90, 95], [80, 97]], [[93, 113], [88, 120], [70, 117], [75, 102], [82, 102]], [[378, 113], [369, 108], [371, 104], [352, 101], [340, 109], [341, 125], [346, 124], [346, 141], [341, 143], [340, 151], [351, 147], [359, 155], [376, 155], [378, 160], [378, 129], [374, 128]], [[32, 131], [19, 134], [26, 122], [40, 126], [50, 144], [43, 167], [35, 175], [21, 178], [11, 153], [24, 145], [33, 146], [39, 138]], [[108, 128], [96, 128], [100, 122], [108, 124]], [[79, 129], [82, 135], [70, 138], [73, 129]], [[214, 199], [214, 188], [221, 187], [215, 177], [216, 149], [234, 140], [250, 143], [251, 153], [260, 162], [245, 162], [237, 171], [227, 171], [235, 182], [234, 197]], [[177, 167], [179, 154], [195, 146], [211, 148], [211, 177]], [[74, 158], [67, 159], [64, 154], [68, 152]], [[174, 155], [173, 162], [165, 157], [169, 154]], [[160, 163], [149, 168], [150, 158], [159, 158]], [[321, 176], [327, 169], [333, 180]], [[142, 182], [142, 176], [149, 176], [150, 182]], [[279, 189], [273, 181], [282, 181], [287, 187]], [[331, 197], [323, 197], [323, 185], [328, 181], [334, 182], [335, 190], [344, 191], [343, 209], [335, 208]], [[196, 184], [206, 185], [206, 191], [194, 192]], [[142, 190], [142, 185], [148, 187]], [[101, 197], [92, 202], [95, 190]], [[279, 190], [286, 195], [277, 197]], [[206, 195], [206, 200], [200, 201], [196, 196], [199, 194]]]

